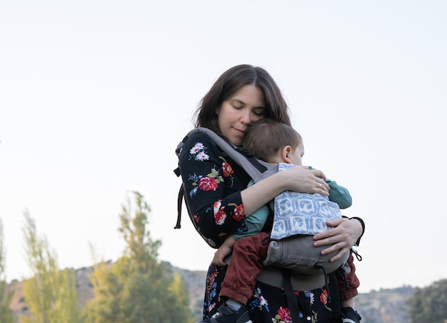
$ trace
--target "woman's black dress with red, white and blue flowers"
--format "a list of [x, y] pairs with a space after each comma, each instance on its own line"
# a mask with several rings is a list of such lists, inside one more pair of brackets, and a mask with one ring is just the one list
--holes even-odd
[[[248, 174], [203, 133], [189, 136], [179, 156], [186, 206], [197, 231], [214, 248], [228, 234], [246, 231], [246, 215], [241, 191], [250, 181]], [[206, 277], [204, 319], [209, 319], [224, 303], [219, 298], [227, 267], [211, 264]], [[326, 286], [296, 291], [301, 322], [331, 322]], [[284, 289], [256, 282], [247, 307], [255, 323], [292, 322]]]

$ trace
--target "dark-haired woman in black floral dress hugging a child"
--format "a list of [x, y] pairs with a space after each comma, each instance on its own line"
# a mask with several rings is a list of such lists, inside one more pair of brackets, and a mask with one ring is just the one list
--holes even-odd
[[[225, 71], [202, 99], [196, 111], [196, 126], [209, 128], [235, 146], [241, 146], [251, 122], [271, 118], [291, 124], [288, 106], [271, 76], [260, 67], [234, 66]], [[186, 205], [194, 214], [194, 224], [206, 242], [220, 247], [228, 234], [244, 230], [245, 220], [283, 191], [319, 193], [328, 196], [324, 174], [308, 167], [292, 167], [247, 188], [250, 177], [232, 162], [206, 134], [194, 134], [184, 143], [179, 167], [186, 192]], [[333, 229], [317, 234], [316, 246], [328, 246], [323, 253], [339, 250], [342, 257], [363, 234], [360, 221], [338, 219], [328, 223]], [[266, 226], [265, 231], [271, 228]], [[219, 299], [226, 267], [211, 264], [206, 278], [204, 319], [228, 322]], [[330, 322], [326, 286], [295, 293], [304, 320]], [[248, 302], [253, 322], [291, 322], [282, 288], [258, 282]], [[218, 309], [220, 312], [218, 312]], [[228, 313], [226, 313], [228, 314]], [[230, 311], [231, 314], [231, 311]], [[227, 319], [227, 320], [225, 320]], [[234, 321], [236, 322], [236, 320]], [[239, 320], [238, 322], [248, 322]]]

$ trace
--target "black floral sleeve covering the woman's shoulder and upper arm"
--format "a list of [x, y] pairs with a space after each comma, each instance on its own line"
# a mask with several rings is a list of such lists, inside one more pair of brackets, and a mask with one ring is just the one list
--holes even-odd
[[246, 231], [241, 190], [250, 178], [206, 134], [189, 136], [179, 156], [186, 207], [194, 226], [213, 247]]

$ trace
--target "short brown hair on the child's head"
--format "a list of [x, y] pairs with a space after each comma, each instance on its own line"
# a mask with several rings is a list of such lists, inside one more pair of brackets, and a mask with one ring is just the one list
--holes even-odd
[[254, 122], [243, 137], [243, 148], [251, 152], [257, 159], [267, 161], [279, 149], [290, 145], [296, 149], [301, 142], [298, 131], [288, 124], [272, 119]]

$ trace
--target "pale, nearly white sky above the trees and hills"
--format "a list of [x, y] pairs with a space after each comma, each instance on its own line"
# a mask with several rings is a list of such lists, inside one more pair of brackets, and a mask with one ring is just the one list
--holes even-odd
[[2, 1], [0, 219], [6, 279], [29, 275], [24, 212], [61, 267], [123, 252], [121, 207], [151, 207], [159, 259], [206, 270], [176, 145], [226, 69], [266, 69], [303, 164], [348, 188], [360, 292], [447, 278], [445, 1]]

